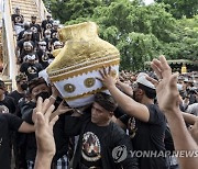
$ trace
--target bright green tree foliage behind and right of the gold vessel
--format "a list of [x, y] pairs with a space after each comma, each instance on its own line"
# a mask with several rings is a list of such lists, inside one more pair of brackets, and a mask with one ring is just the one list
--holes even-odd
[[143, 69], [144, 61], [161, 54], [198, 59], [198, 16], [177, 20], [167, 4], [144, 5], [141, 0], [51, 1], [54, 18], [65, 25], [96, 22], [100, 37], [119, 48], [123, 69]]

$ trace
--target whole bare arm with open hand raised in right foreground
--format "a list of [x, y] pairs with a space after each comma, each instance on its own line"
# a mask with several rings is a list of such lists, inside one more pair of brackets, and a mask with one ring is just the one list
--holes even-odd
[[[167, 119], [175, 149], [198, 150], [198, 145], [189, 134], [179, 110], [180, 97], [177, 90], [177, 75], [172, 75], [172, 69], [164, 56], [161, 56], [160, 60], [154, 59], [152, 68], [161, 80], [152, 78], [147, 78], [147, 80], [156, 87], [158, 105]], [[196, 169], [198, 166], [197, 157], [178, 157], [178, 161], [182, 169]]]

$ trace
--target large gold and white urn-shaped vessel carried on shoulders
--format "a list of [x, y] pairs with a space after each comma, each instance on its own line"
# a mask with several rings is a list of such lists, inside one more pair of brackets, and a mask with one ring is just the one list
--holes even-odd
[[59, 30], [62, 49], [55, 50], [55, 59], [47, 67], [51, 82], [72, 108], [84, 106], [94, 101], [94, 94], [106, 91], [96, 79], [102, 67], [112, 67], [112, 76], [119, 75], [120, 53], [98, 36], [94, 22], [65, 26]]

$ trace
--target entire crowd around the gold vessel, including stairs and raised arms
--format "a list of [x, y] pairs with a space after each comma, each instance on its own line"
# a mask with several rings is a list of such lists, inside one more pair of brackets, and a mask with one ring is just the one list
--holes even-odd
[[[111, 67], [101, 68], [97, 80], [111, 95], [98, 92], [91, 105], [72, 109], [53, 83], [38, 77], [56, 44], [63, 45], [58, 25], [50, 15], [41, 26], [35, 16], [23, 24], [16, 11], [20, 72], [14, 91], [0, 81], [0, 168], [11, 168], [12, 149], [15, 169], [197, 168], [198, 72], [172, 74], [164, 56], [152, 61], [152, 72], [121, 71], [114, 78]], [[144, 150], [172, 154], [135, 154]], [[174, 150], [195, 156], [176, 158]]]

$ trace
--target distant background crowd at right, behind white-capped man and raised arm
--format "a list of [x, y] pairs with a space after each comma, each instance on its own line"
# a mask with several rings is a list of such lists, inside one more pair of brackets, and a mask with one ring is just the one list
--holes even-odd
[[[153, 71], [145, 71], [150, 77], [157, 78]], [[138, 74], [122, 70], [120, 81], [133, 86]], [[182, 111], [198, 115], [198, 71], [191, 71], [178, 75], [177, 89], [182, 97], [179, 104]], [[132, 94], [132, 92], [131, 92]]]

